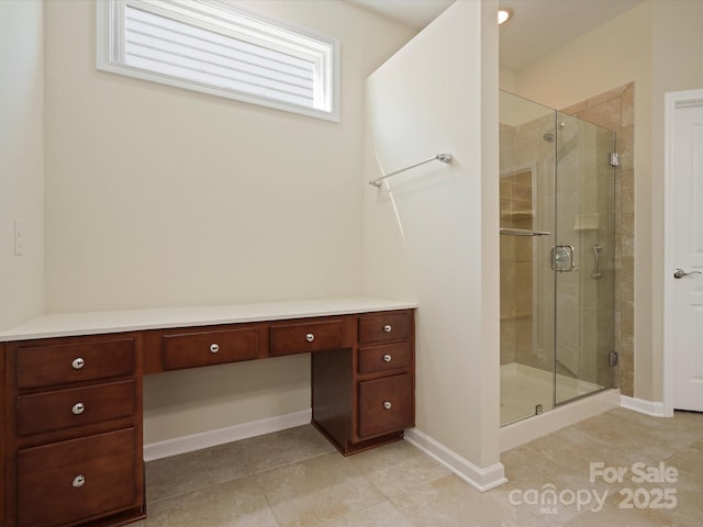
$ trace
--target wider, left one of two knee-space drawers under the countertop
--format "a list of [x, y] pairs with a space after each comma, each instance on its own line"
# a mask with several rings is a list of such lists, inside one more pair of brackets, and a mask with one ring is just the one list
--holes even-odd
[[236, 362], [259, 356], [255, 327], [166, 334], [161, 345], [165, 370]]

